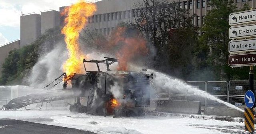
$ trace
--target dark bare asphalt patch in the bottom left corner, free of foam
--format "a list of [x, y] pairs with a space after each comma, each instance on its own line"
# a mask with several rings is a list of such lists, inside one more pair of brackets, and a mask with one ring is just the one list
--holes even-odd
[[8, 118], [0, 119], [0, 134], [95, 134], [74, 128], [52, 126]]

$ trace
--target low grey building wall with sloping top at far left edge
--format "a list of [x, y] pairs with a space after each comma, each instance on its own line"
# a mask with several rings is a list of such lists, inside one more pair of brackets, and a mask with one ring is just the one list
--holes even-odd
[[20, 40], [12, 41], [8, 44], [0, 46], [0, 76], [2, 73], [2, 65], [4, 63], [4, 59], [8, 56], [9, 52], [13, 49], [20, 48]]

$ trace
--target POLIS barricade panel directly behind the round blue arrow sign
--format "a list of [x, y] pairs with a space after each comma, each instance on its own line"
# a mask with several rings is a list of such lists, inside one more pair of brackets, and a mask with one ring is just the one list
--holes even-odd
[[[246, 107], [244, 104], [244, 95], [249, 90], [249, 81], [229, 81], [228, 102], [238, 106]], [[254, 89], [256, 89], [254, 81]]]

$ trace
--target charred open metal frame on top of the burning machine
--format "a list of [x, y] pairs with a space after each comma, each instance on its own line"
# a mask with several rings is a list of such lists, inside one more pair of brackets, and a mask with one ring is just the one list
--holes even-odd
[[[104, 64], [106, 64], [106, 70], [107, 70], [107, 71], [110, 71], [109, 65], [112, 65], [114, 62], [117, 62], [117, 63], [118, 63], [118, 60], [115, 59], [115, 58], [109, 58], [109, 57], [104, 57], [104, 58], [106, 58], [106, 59], [105, 59], [105, 60], [101, 60], [101, 61], [100, 61], [100, 60], [94, 60], [94, 59], [92, 59], [92, 60], [90, 60], [90, 61], [86, 61], [86, 59], [84, 59], [83, 63], [85, 63], [85, 62], [88, 62], [88, 63], [96, 63], [99, 72], [100, 72], [100, 67], [99, 67], [99, 64], [98, 64], [98, 63], [104, 63]], [[109, 61], [111, 61], [111, 62], [109, 63]], [[85, 71], [86, 71], [85, 64], [84, 64], [84, 69], [85, 69]]]

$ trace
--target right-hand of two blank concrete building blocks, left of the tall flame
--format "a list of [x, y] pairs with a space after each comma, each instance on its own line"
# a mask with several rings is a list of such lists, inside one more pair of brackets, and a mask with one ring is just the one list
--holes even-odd
[[52, 10], [41, 12], [41, 34], [50, 28], [60, 26], [60, 12]]

